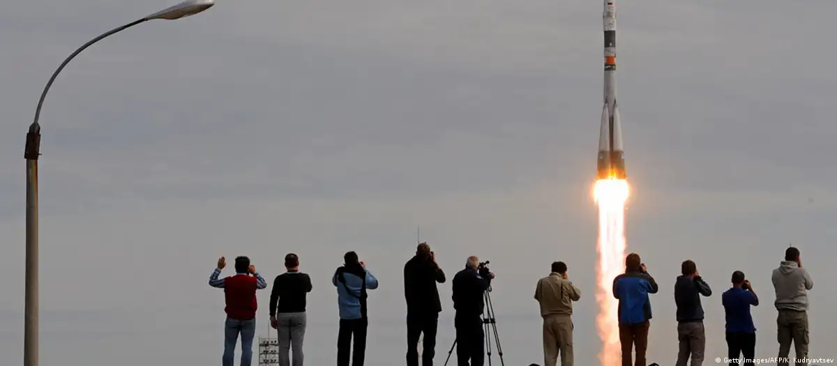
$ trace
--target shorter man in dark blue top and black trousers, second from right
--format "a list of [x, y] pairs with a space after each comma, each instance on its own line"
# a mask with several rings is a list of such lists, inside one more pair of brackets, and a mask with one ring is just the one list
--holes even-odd
[[[752, 323], [750, 306], [758, 306], [758, 296], [744, 277], [744, 272], [732, 272], [732, 288], [721, 296], [727, 317], [727, 348], [729, 366], [752, 363], [756, 357], [756, 326]], [[744, 359], [738, 357], [743, 354]]]

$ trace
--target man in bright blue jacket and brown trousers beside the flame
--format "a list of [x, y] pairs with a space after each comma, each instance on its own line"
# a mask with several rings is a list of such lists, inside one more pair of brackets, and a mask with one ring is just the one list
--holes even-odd
[[619, 299], [619, 343], [622, 366], [632, 366], [631, 351], [636, 348], [636, 366], [645, 366], [648, 329], [651, 319], [649, 293], [657, 293], [657, 282], [648, 274], [639, 254], [625, 258], [625, 272], [614, 278], [614, 297]]

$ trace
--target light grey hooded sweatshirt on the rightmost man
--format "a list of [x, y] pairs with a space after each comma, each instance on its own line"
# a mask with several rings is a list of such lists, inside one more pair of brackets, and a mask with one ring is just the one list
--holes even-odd
[[804, 312], [808, 310], [808, 290], [814, 280], [796, 262], [783, 261], [773, 270], [773, 289], [776, 290], [776, 310]]

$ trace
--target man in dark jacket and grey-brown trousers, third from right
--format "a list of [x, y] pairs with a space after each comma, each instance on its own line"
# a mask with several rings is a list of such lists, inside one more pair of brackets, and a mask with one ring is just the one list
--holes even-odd
[[686, 366], [690, 356], [691, 366], [701, 366], [703, 353], [706, 351], [706, 328], [703, 327], [701, 295], [709, 297], [712, 290], [697, 272], [694, 261], [683, 261], [680, 264], [680, 273], [675, 282], [677, 339], [680, 341], [676, 366]]

